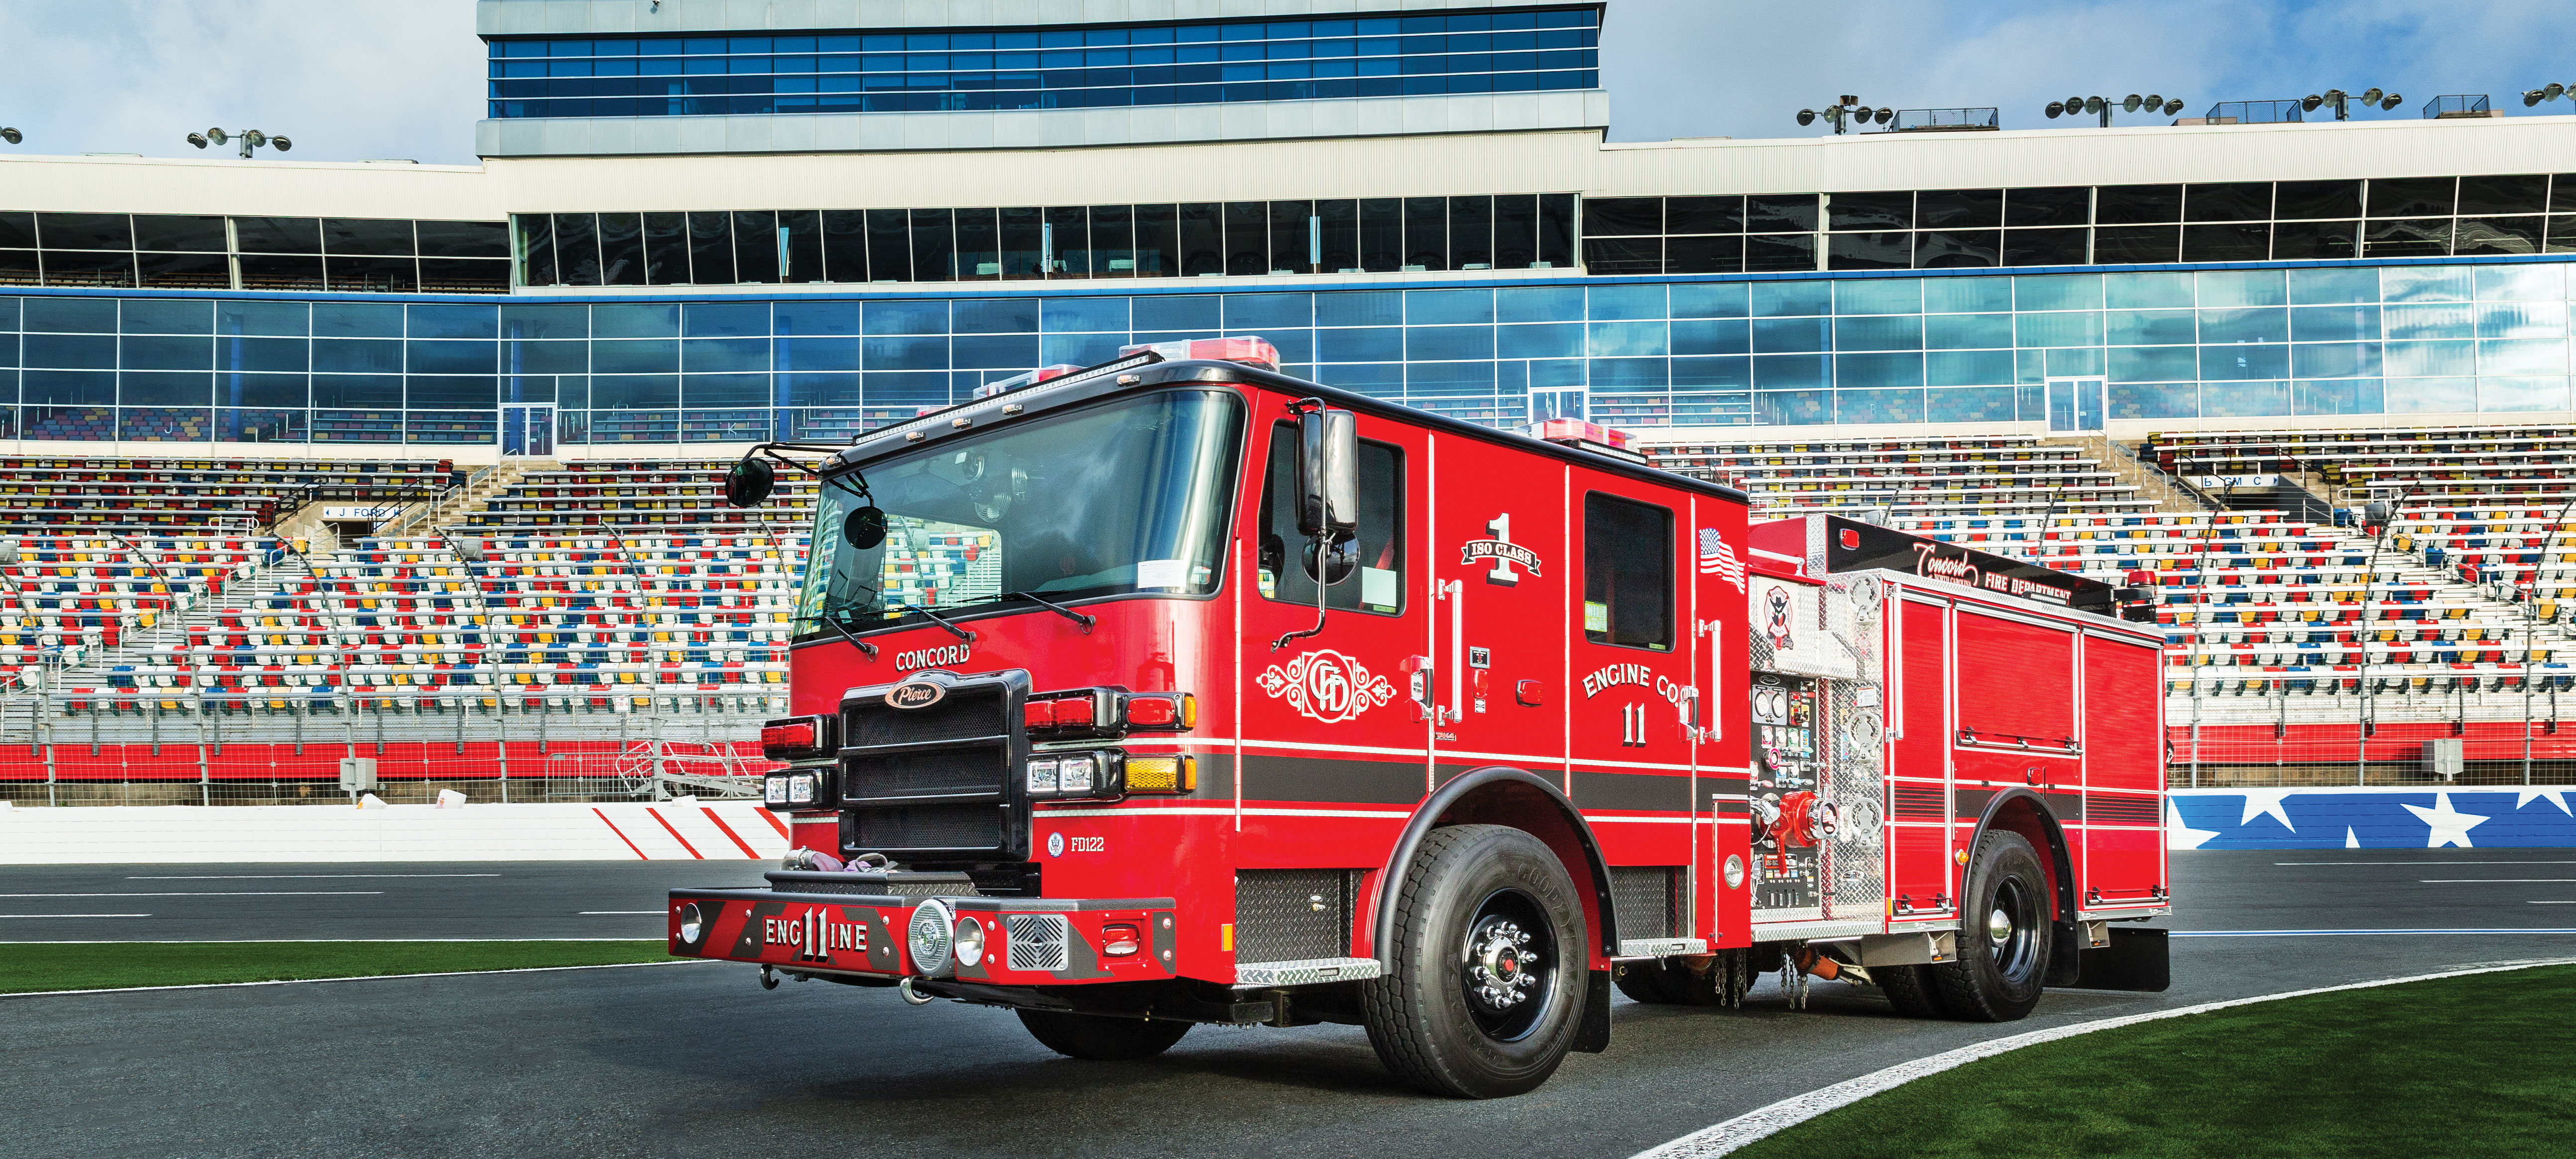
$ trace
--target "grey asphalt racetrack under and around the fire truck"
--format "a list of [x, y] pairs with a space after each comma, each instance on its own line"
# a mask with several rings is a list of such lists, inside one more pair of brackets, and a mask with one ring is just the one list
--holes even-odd
[[[0, 899], [13, 914], [0, 940], [657, 938], [662, 889], [757, 873], [0, 868], [0, 894], [13, 894]], [[1978, 1038], [2576, 958], [2576, 853], [2177, 853], [2174, 886], [2172, 927], [2218, 935], [2174, 940], [2166, 994], [2053, 992], [2032, 1020], [2007, 1025], [1901, 1020], [1844, 984], [1816, 984], [1806, 1012], [1767, 984], [1741, 1012], [1620, 999], [1607, 1053], [1577, 1053], [1551, 1084], [1499, 1102], [1396, 1084], [1358, 1028], [1198, 1028], [1154, 1061], [1087, 1064], [1048, 1053], [999, 1010], [904, 1007], [891, 992], [819, 981], [762, 992], [750, 966], [721, 963], [10, 997], [0, 1151], [1620, 1159]], [[149, 917], [15, 917], [111, 912]]]

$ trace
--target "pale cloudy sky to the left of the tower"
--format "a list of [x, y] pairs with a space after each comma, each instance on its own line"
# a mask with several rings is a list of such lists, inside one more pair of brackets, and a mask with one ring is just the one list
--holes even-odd
[[474, 160], [471, 0], [0, 0], [0, 44], [10, 152], [178, 157], [222, 126], [291, 160]]

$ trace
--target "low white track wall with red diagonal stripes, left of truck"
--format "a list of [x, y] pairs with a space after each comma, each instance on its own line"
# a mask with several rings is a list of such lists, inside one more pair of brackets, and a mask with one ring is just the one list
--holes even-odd
[[0, 865], [317, 860], [773, 860], [752, 801], [0, 809]]

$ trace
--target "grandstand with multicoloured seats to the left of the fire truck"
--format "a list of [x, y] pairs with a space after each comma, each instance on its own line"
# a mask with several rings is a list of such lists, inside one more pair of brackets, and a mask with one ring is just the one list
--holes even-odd
[[39, 801], [330, 798], [355, 749], [389, 798], [739, 791], [739, 739], [786, 706], [814, 492], [734, 513], [719, 471], [0, 461], [23, 482], [0, 778]]

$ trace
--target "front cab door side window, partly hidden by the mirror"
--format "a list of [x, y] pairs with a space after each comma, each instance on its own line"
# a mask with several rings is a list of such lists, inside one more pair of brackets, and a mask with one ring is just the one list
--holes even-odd
[[[1262, 476], [1262, 595], [1314, 605], [1306, 533], [1296, 531], [1296, 425], [1270, 428], [1270, 471]], [[1360, 569], [1324, 590], [1327, 608], [1399, 613], [1404, 608], [1404, 453], [1360, 440]]]

